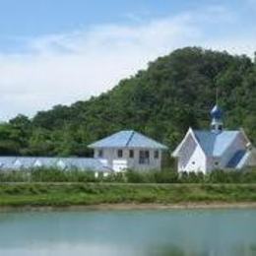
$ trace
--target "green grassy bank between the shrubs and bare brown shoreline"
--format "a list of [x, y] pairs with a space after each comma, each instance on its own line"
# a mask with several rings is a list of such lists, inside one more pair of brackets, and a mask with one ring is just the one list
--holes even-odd
[[256, 202], [256, 184], [6, 183], [0, 206]]

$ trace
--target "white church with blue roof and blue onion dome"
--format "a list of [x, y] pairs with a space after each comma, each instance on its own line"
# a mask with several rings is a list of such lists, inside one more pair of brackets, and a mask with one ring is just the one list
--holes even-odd
[[179, 172], [207, 173], [215, 169], [241, 169], [256, 166], [256, 150], [242, 129], [224, 130], [223, 111], [217, 105], [211, 111], [209, 131], [189, 128], [172, 153]]

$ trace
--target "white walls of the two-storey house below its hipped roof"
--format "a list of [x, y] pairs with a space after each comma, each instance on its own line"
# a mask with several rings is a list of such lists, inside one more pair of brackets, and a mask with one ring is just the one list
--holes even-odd
[[[118, 158], [118, 150], [123, 151], [122, 158]], [[102, 152], [102, 157], [99, 157], [99, 151]], [[130, 151], [134, 152], [133, 158], [130, 158]], [[140, 151], [149, 151], [149, 162], [140, 163]], [[159, 158], [155, 158], [155, 152], [159, 152]], [[136, 169], [136, 170], [150, 170], [160, 169], [162, 153], [161, 150], [155, 149], [143, 149], [143, 148], [102, 148], [95, 149], [95, 158], [101, 160], [107, 160], [107, 165], [114, 171], [122, 171], [124, 169]]]

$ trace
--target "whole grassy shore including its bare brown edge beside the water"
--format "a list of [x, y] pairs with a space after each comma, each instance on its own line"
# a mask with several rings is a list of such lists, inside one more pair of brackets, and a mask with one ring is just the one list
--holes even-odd
[[256, 209], [256, 184], [1, 184], [0, 212]]

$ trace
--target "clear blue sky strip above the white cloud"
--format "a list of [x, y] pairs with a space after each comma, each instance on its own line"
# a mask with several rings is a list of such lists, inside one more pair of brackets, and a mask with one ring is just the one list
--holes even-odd
[[[217, 30], [250, 32], [256, 23], [252, 5], [253, 0], [0, 0], [0, 49], [21, 50], [33, 36], [85, 31], [102, 24], [147, 23], [209, 6], [222, 6], [242, 17], [235, 27]], [[209, 30], [209, 36], [216, 32]]]

